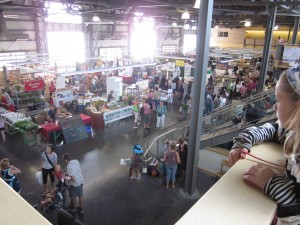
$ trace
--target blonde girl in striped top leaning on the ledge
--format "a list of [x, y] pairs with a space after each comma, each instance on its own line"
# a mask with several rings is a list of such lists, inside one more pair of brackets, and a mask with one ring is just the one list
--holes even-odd
[[286, 173], [276, 174], [264, 165], [255, 165], [247, 170], [243, 179], [264, 191], [277, 202], [277, 225], [300, 224], [300, 67], [284, 71], [276, 85], [277, 102], [273, 108], [277, 112], [278, 122], [263, 126], [250, 127], [234, 139], [229, 154], [232, 166], [243, 152], [250, 152], [258, 142], [277, 140], [284, 143], [286, 155]]

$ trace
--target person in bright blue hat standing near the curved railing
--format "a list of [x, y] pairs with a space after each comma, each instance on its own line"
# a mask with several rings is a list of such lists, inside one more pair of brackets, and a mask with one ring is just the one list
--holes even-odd
[[143, 150], [141, 145], [135, 145], [133, 147], [133, 156], [131, 157], [131, 183], [134, 180], [137, 180], [140, 183], [141, 180], [141, 171], [143, 169]]

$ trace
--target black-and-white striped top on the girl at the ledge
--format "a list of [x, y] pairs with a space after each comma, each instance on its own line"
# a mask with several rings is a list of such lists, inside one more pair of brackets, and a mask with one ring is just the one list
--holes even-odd
[[[287, 135], [288, 132], [278, 122], [266, 123], [260, 127], [245, 129], [233, 139], [232, 148], [246, 148], [250, 151], [254, 144], [270, 140], [282, 144]], [[273, 176], [267, 182], [264, 192], [277, 202], [278, 217], [300, 217], [300, 158], [292, 154], [287, 157], [286, 162], [286, 173]], [[299, 204], [298, 209], [289, 211], [288, 207], [295, 204]]]

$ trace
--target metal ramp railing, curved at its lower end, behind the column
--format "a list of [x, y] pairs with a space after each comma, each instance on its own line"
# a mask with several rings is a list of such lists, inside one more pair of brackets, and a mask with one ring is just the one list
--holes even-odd
[[[198, 140], [208, 147], [229, 142], [241, 130], [260, 125], [276, 119], [276, 113], [272, 108], [275, 101], [274, 89], [251, 95], [242, 100], [233, 100], [231, 104], [219, 108], [203, 117], [202, 136]], [[239, 117], [238, 115], [241, 115]], [[165, 151], [166, 140], [183, 138], [188, 140], [190, 121], [177, 123], [159, 132], [153, 133], [142, 141], [145, 156], [160, 159]]]

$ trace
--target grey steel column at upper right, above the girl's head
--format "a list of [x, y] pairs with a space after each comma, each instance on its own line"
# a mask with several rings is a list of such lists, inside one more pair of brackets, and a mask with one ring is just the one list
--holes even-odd
[[272, 45], [273, 28], [275, 25], [277, 6], [275, 4], [269, 4], [268, 10], [268, 21], [265, 29], [265, 44], [261, 62], [261, 69], [259, 75], [259, 86], [258, 91], [261, 92], [265, 87], [266, 74], [269, 67], [270, 49]]

